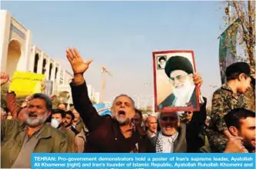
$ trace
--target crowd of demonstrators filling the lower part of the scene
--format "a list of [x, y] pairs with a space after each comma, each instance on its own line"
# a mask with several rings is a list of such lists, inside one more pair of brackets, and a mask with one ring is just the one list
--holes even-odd
[[[206, 115], [207, 100], [200, 94], [200, 111], [152, 113], [144, 119], [126, 94], [114, 99], [111, 116], [100, 116], [83, 76], [91, 60], [84, 62], [73, 48], [66, 55], [74, 72], [70, 84], [74, 106], [61, 103], [52, 109], [52, 97], [41, 93], [19, 103], [15, 92], [8, 91], [6, 108], [1, 108], [1, 167], [30, 167], [27, 158], [32, 152], [255, 151], [255, 113], [243, 99], [254, 82], [248, 64], [238, 62], [227, 68], [227, 83], [213, 94], [211, 117]], [[170, 77], [172, 71], [167, 71]], [[194, 87], [200, 88], [201, 76], [191, 77]], [[1, 85], [7, 82], [8, 75], [2, 72]]]

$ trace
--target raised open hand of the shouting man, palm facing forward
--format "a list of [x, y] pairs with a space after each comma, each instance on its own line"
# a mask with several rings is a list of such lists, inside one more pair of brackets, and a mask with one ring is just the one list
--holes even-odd
[[76, 50], [75, 48], [68, 48], [66, 50], [66, 56], [74, 72], [74, 75], [82, 75], [88, 69], [89, 65], [92, 62], [92, 60], [84, 62], [78, 50]]

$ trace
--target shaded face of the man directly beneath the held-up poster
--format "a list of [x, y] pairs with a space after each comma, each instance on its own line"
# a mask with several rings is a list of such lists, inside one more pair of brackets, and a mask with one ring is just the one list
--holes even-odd
[[178, 114], [175, 112], [161, 114], [160, 127], [163, 134], [167, 136], [175, 134], [178, 127]]

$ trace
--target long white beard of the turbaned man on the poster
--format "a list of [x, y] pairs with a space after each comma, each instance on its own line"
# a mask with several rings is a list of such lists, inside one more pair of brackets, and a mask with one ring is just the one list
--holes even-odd
[[[173, 94], [175, 94], [175, 106], [185, 106], [188, 100], [188, 93], [191, 91], [191, 87], [194, 86], [194, 81], [190, 78], [186, 78], [185, 82], [180, 88], [173, 88]], [[190, 98], [189, 98], [190, 99]]]

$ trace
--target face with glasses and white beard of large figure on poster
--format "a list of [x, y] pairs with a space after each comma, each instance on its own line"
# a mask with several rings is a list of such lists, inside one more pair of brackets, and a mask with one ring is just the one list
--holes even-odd
[[184, 97], [191, 89], [191, 85], [194, 85], [191, 75], [181, 70], [171, 71], [170, 80], [176, 97]]

